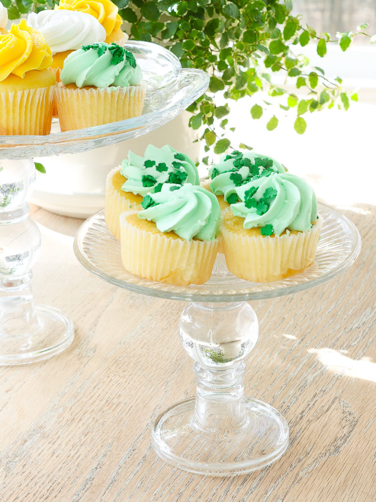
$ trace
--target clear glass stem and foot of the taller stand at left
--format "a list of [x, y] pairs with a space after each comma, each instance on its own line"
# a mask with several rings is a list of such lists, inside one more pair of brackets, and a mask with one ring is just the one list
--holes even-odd
[[47, 359], [68, 347], [73, 323], [60, 310], [34, 305], [31, 266], [41, 245], [27, 199], [35, 182], [30, 159], [0, 160], [0, 365]]

